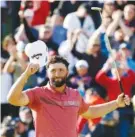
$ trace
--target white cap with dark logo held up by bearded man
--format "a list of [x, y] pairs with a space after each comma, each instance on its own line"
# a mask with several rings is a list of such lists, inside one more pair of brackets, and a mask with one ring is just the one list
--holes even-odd
[[47, 63], [48, 48], [41, 40], [27, 44], [25, 54], [29, 57], [31, 63], [39, 64], [40, 67], [45, 66]]

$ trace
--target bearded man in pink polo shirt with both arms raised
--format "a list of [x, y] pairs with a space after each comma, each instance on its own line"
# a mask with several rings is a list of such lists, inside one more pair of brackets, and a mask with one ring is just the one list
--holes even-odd
[[36, 137], [77, 137], [78, 115], [97, 118], [130, 104], [128, 96], [121, 94], [114, 101], [88, 106], [77, 90], [66, 86], [68, 65], [62, 57], [50, 58], [47, 64], [49, 83], [22, 92], [28, 78], [39, 69], [39, 65], [29, 64], [8, 94], [12, 105], [31, 108]]

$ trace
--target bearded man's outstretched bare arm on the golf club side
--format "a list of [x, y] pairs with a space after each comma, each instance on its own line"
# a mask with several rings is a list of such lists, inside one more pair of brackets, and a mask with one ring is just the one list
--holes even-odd
[[110, 101], [108, 103], [90, 106], [89, 109], [82, 114], [84, 118], [98, 118], [114, 111], [119, 107], [125, 107], [130, 104], [130, 99], [127, 95], [123, 93], [118, 96], [118, 98], [114, 101]]

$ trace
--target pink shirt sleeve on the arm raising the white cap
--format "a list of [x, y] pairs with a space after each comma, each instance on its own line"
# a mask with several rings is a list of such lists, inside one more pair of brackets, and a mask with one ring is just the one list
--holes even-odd
[[29, 98], [28, 107], [32, 108], [35, 104], [39, 104], [40, 102], [40, 99], [39, 99], [40, 88], [39, 87], [28, 89], [28, 90], [25, 90], [24, 92]]

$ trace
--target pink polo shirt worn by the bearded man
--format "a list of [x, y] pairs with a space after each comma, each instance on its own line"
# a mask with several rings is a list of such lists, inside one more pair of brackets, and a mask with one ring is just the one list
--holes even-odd
[[77, 118], [88, 105], [77, 90], [66, 87], [58, 93], [49, 84], [26, 91], [32, 110], [36, 137], [77, 137]]

